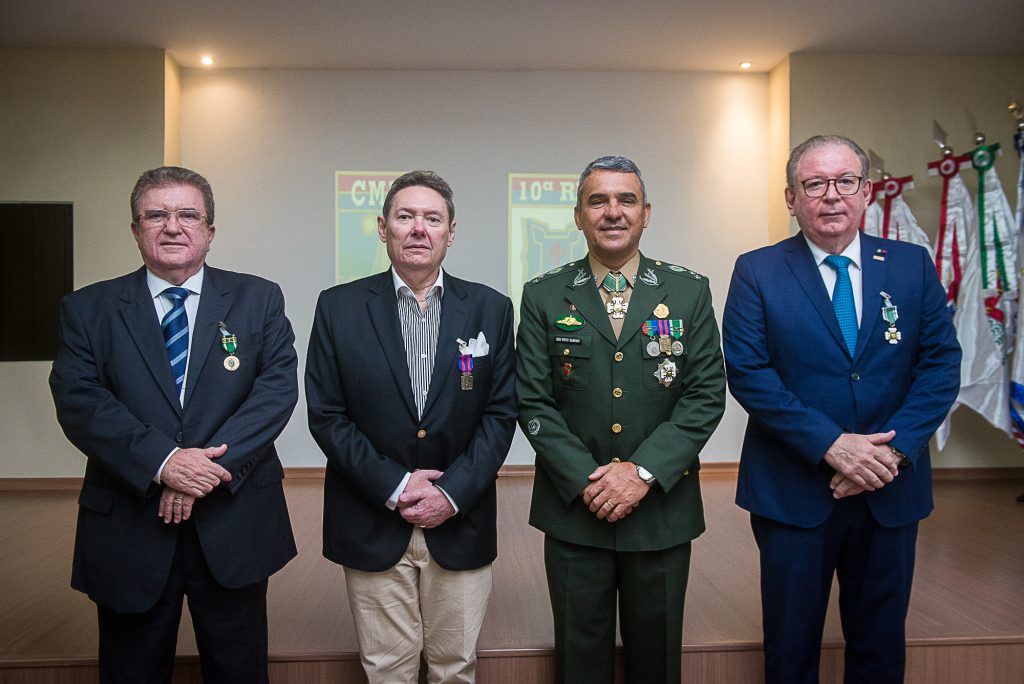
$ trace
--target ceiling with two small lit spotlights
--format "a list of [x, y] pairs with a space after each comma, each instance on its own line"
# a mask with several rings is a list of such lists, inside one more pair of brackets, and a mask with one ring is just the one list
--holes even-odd
[[[840, 5], [847, 5], [840, 9]], [[1021, 55], [1021, 0], [0, 0], [0, 46], [184, 68], [768, 71], [797, 51]], [[1024, 73], [1024, 69], [1022, 69]]]

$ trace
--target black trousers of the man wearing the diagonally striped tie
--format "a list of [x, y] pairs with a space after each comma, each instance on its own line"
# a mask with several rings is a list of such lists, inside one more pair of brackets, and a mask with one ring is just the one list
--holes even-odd
[[195, 525], [181, 523], [167, 586], [155, 606], [141, 613], [96, 606], [100, 681], [169, 683], [181, 601], [187, 596], [203, 680], [267, 682], [266, 587], [266, 580], [240, 589], [220, 586], [203, 557]]

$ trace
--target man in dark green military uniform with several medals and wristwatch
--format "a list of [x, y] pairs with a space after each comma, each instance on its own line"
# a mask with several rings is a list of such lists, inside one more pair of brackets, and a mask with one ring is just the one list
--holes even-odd
[[575, 206], [587, 258], [522, 294], [519, 423], [537, 452], [529, 522], [545, 532], [559, 682], [612, 681], [616, 602], [627, 682], [680, 679], [705, 529], [697, 457], [725, 374], [708, 281], [640, 254], [649, 220], [636, 165], [592, 162]]

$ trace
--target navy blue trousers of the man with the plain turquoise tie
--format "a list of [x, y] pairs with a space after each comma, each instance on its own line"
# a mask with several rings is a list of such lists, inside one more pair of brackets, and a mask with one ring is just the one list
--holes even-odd
[[751, 516], [761, 552], [767, 684], [816, 684], [833, 575], [839, 579], [846, 684], [898, 684], [918, 523], [883, 527], [864, 497], [842, 499], [811, 529]]

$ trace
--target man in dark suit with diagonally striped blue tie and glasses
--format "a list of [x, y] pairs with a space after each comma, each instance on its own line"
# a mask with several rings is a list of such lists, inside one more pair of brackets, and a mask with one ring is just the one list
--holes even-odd
[[266, 682], [267, 578], [296, 552], [273, 445], [298, 398], [284, 297], [204, 265], [198, 173], [146, 171], [131, 210], [144, 267], [60, 308], [50, 388], [88, 459], [72, 586], [96, 603], [103, 682], [171, 681], [183, 596], [204, 679]]

